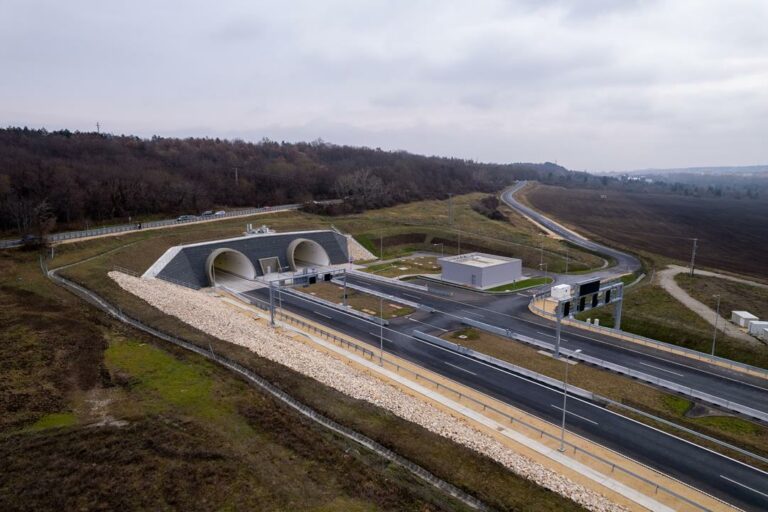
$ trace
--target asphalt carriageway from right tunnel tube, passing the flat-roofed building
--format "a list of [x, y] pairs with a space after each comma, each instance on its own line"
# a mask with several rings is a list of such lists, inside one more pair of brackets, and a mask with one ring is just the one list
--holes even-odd
[[[429, 320], [441, 328], [453, 328], [457, 317], [484, 322], [517, 334], [555, 343], [555, 323], [538, 317], [528, 310], [531, 297], [524, 294], [490, 295], [463, 290], [452, 286], [429, 283], [431, 289], [451, 297], [366, 279], [349, 274], [349, 283], [396, 297], [418, 302], [437, 310]], [[418, 281], [411, 281], [416, 283]], [[446, 322], [447, 317], [448, 322]], [[446, 325], [447, 324], [447, 325]], [[422, 326], [426, 329], [426, 326]], [[746, 405], [768, 413], [768, 382], [757, 377], [695, 361], [684, 356], [644, 347], [629, 341], [593, 332], [578, 332], [577, 328], [563, 326], [561, 346], [570, 350], [581, 349], [586, 355], [597, 357], [648, 375], [653, 375], [681, 386], [692, 387], [710, 395]]]

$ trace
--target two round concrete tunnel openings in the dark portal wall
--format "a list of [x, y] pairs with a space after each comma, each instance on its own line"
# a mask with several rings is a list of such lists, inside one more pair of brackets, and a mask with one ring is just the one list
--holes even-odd
[[[280, 259], [277, 256], [268, 259], [271, 262], [267, 263], [266, 266], [261, 265], [260, 261], [256, 262], [260, 267], [264, 267], [262, 273], [287, 270], [286, 268], [272, 267], [272, 265], [275, 267], [280, 265]], [[296, 272], [305, 268], [328, 266], [331, 263], [331, 258], [323, 246], [314, 240], [297, 238], [288, 244], [285, 261], [287, 261], [290, 270]], [[217, 274], [232, 275], [249, 280], [255, 279], [259, 275], [256, 264], [238, 250], [226, 247], [216, 249], [208, 256], [206, 262], [208, 281], [210, 284], [215, 283]]]

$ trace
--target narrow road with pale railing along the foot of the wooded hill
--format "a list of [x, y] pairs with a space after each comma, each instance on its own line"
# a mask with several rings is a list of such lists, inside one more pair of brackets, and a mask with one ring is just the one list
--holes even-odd
[[[340, 203], [340, 199], [330, 199], [327, 201], [317, 201], [318, 204], [337, 204]], [[80, 238], [90, 238], [94, 236], [109, 235], [114, 233], [129, 233], [132, 231], [143, 231], [145, 229], [162, 228], [165, 226], [177, 226], [181, 224], [194, 224], [197, 222], [209, 222], [213, 220], [229, 219], [233, 217], [248, 217], [250, 215], [258, 215], [261, 213], [271, 212], [283, 212], [289, 210], [298, 210], [302, 204], [284, 204], [280, 206], [264, 206], [262, 208], [243, 208], [237, 210], [230, 210], [223, 215], [211, 215], [207, 217], [193, 217], [189, 220], [177, 220], [177, 219], [165, 219], [154, 220], [149, 222], [134, 222], [131, 224], [119, 224], [116, 226], [104, 226], [102, 228], [84, 229], [80, 231], [64, 231], [61, 233], [52, 233], [48, 235], [50, 242], [63, 242], [66, 240], [76, 240]], [[139, 229], [141, 226], [141, 229]], [[23, 244], [21, 239], [16, 240], [0, 240], [0, 249], [7, 249], [11, 247], [18, 247]]]

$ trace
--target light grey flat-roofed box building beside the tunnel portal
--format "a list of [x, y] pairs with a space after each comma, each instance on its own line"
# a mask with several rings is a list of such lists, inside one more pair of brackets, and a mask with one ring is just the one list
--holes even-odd
[[470, 252], [438, 261], [444, 281], [481, 290], [514, 283], [523, 277], [523, 262], [517, 258]]

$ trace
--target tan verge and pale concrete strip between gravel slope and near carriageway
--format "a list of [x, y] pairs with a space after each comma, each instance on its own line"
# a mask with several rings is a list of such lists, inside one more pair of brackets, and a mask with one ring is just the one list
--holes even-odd
[[[262, 311], [243, 304], [242, 301], [237, 300], [236, 298], [229, 298], [227, 302], [230, 305], [239, 308], [241, 311], [250, 311], [252, 315], [264, 318], [264, 313]], [[286, 319], [290, 319], [292, 315], [283, 316]], [[301, 318], [299, 321], [304, 324], [314, 324], [314, 322], [304, 318]], [[372, 355], [371, 358], [368, 359], [357, 355], [357, 353], [350, 352], [348, 349], [338, 347], [332, 342], [325, 341], [318, 336], [303, 332], [300, 328], [294, 327], [289, 323], [281, 321], [280, 325], [283, 328], [300, 333], [302, 336], [306, 337], [308, 342], [315, 345], [316, 348], [319, 345], [324, 351], [332, 353], [335, 357], [341, 357], [348, 364], [352, 364], [359, 369], [374, 374], [378, 378], [382, 378], [412, 396], [422, 400], [426, 399], [454, 417], [469, 421], [483, 432], [501, 440], [513, 450], [518, 451], [519, 453], [524, 453], [529, 458], [541, 463], [545, 467], [554, 469], [552, 467], [554, 465], [556, 468], [554, 470], [556, 472], [566, 474], [572, 480], [581, 483], [586, 487], [595, 489], [602, 494], [610, 494], [611, 499], [617, 503], [630, 506], [633, 509], [638, 509], [639, 507], [649, 510], [701, 510], [672, 495], [658, 494], [660, 492], [658, 486], [654, 488], [647, 484], [640, 484], [639, 481], [618, 472], [609, 476], [612, 472], [612, 468], [609, 466], [601, 468], [608, 474], [602, 473], [594, 468], [593, 459], [587, 458], [581, 454], [569, 453], [568, 455], [565, 455], [557, 449], [558, 446], [554, 445], [556, 443], [547, 443], [549, 439], [546, 437], [540, 437], [540, 440], [536, 441], [531, 437], [531, 434], [536, 434], [535, 432], [532, 432], [529, 429], [526, 431], [525, 427], [519, 422], [513, 422], [510, 426], [509, 419], [494, 413], [493, 409], [509, 411], [509, 416], [524, 418], [524, 421], [535, 425], [536, 428], [549, 431], [550, 433], [557, 434], [559, 432], [559, 427], [553, 426], [536, 417], [529, 416], [523, 411], [517, 410], [503, 402], [499, 402], [471, 388], [464, 387], [458, 383], [445, 379], [440, 375], [432, 374], [428, 370], [401, 360], [391, 354], [387, 354], [387, 357], [384, 359], [385, 368], [382, 368], [379, 366], [378, 357], [375, 355]], [[324, 325], [317, 325], [317, 328], [329, 332], [338, 338], [349, 339], [348, 336], [335, 332]], [[365, 346], [365, 343], [358, 340], [351, 340], [349, 343]], [[369, 352], [374, 354], [373, 351]], [[392, 370], [387, 369], [386, 366], [391, 366]], [[433, 383], [430, 383], [426, 379], [419, 380], [418, 376], [416, 379], [419, 383], [404, 377], [398, 373], [401, 371], [400, 369], [406, 371], [406, 373], [412, 372], [412, 374], [420, 374], [431, 380], [433, 383], [437, 382], [437, 388], [432, 389], [429, 386], [434, 387]], [[439, 384], [441, 382], [443, 383], [442, 386]], [[475, 402], [467, 400], [462, 402], [462, 397], [474, 398], [477, 401], [486, 402], [488, 405], [480, 406]], [[459, 402], [456, 402], [456, 399], [458, 399]], [[523, 427], [522, 432], [517, 430], [521, 427]], [[658, 485], [671, 489], [682, 496], [689, 497], [689, 499], [697, 503], [705, 503], [703, 506], [707, 509], [734, 510], [733, 507], [707, 495], [706, 493], [693, 489], [682, 482], [667, 477], [666, 475], [661, 475], [657, 471], [637, 463], [632, 459], [628, 459], [617, 452], [596, 445], [591, 441], [571, 434], [570, 432], [567, 434], [566, 440], [569, 443], [575, 442], [580, 445], [583, 444], [584, 446], [588, 446], [589, 451], [599, 452], [601, 457], [610, 460], [616, 467], [627, 467], [631, 465], [633, 472], [644, 474], [648, 480], [658, 480], [661, 478], [663, 483], [660, 482]], [[644, 489], [642, 489], [643, 485], [645, 486]], [[641, 490], [638, 490], [638, 487], [640, 487]], [[663, 490], [661, 492], [663, 492]], [[650, 496], [655, 496], [655, 498], [651, 498]]]

